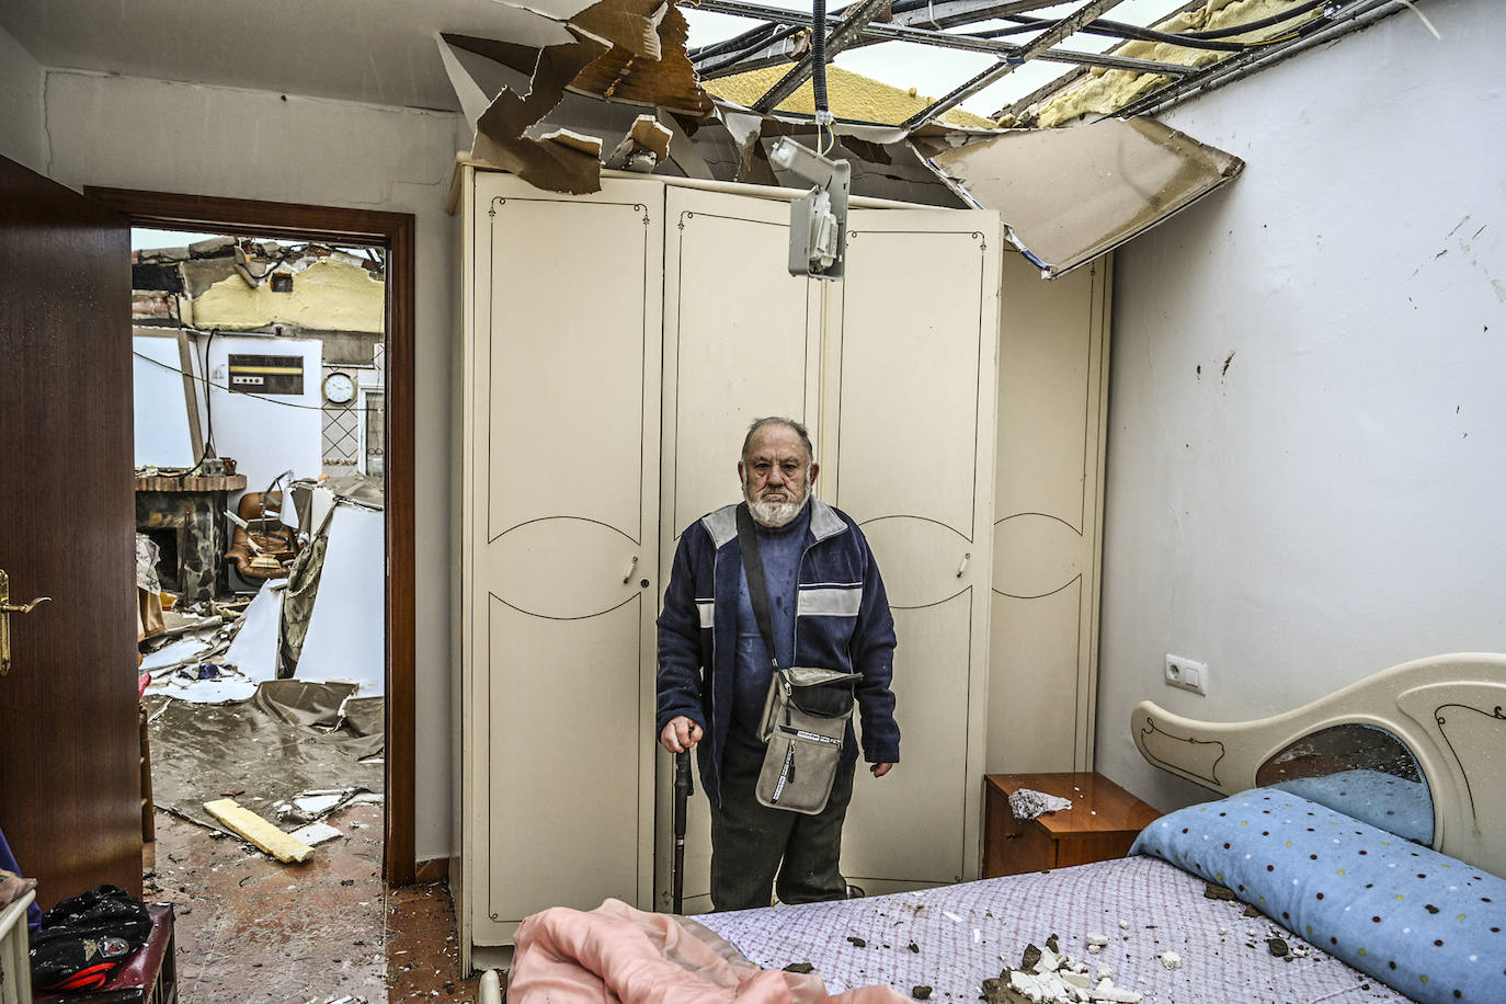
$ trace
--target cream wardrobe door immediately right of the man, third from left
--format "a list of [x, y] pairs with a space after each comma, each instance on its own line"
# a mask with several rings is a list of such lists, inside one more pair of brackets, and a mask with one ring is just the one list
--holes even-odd
[[901, 762], [858, 771], [843, 840], [869, 893], [977, 875], [998, 247], [992, 212], [848, 217], [821, 483], [867, 536], [899, 635]]

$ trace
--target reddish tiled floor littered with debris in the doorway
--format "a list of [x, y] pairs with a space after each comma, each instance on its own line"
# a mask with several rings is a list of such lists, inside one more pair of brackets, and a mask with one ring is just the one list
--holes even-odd
[[157, 813], [146, 900], [176, 908], [182, 1004], [476, 999], [449, 890], [383, 887], [381, 805], [327, 822], [345, 835], [295, 866]]

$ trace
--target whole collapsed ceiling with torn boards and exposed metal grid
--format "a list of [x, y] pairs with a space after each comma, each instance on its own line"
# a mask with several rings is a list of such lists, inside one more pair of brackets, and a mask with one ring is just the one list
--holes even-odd
[[[998, 209], [1042, 274], [1062, 274], [1242, 167], [1170, 129], [1114, 119], [1157, 113], [1404, 9], [1404, 0], [1194, 0], [1143, 24], [1110, 17], [1148, 2], [854, 0], [827, 14], [824, 63], [896, 41], [991, 57], [979, 72], [959, 71], [940, 98], [848, 74], [866, 81], [848, 86], [852, 95], [893, 92], [831, 104], [833, 155], [852, 164], [854, 194]], [[0, 26], [47, 66], [459, 110], [476, 126], [474, 160], [556, 191], [595, 191], [604, 161], [804, 187], [770, 163], [768, 145], [815, 134], [815, 15], [758, 0], [685, 0], [685, 9], [751, 23], [690, 47], [675, 3], [6, 0]], [[1113, 45], [1098, 51], [1105, 38]], [[989, 119], [959, 108], [1035, 65], [1065, 75]], [[1062, 125], [1090, 128], [1050, 128]], [[1131, 163], [1140, 173], [1122, 169]], [[1060, 170], [1042, 175], [1051, 164]], [[1030, 176], [1045, 188], [1026, 184]], [[1050, 205], [1062, 209], [1056, 218], [1041, 212]], [[1074, 205], [1099, 212], [1087, 226], [1077, 217], [1062, 224]]]

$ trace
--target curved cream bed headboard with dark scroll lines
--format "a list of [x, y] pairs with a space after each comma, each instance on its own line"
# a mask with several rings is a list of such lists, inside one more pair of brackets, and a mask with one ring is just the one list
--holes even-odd
[[1401, 823], [1367, 822], [1506, 876], [1506, 655], [1404, 662], [1256, 721], [1197, 721], [1152, 701], [1140, 701], [1130, 721], [1146, 760], [1224, 795], [1340, 775], [1425, 784], [1417, 790], [1426, 793], [1431, 838], [1426, 823], [1408, 834]]

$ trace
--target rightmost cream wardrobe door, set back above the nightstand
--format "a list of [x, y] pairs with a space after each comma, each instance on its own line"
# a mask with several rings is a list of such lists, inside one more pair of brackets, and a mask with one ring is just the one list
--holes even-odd
[[1005, 262], [989, 774], [1093, 769], [1111, 266]]

